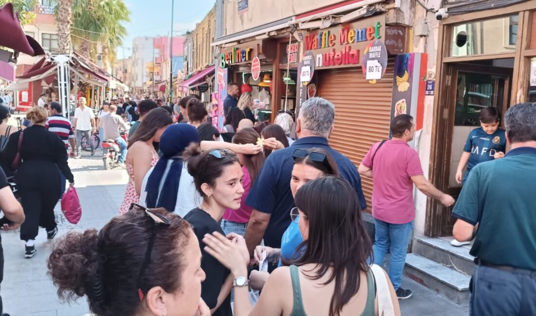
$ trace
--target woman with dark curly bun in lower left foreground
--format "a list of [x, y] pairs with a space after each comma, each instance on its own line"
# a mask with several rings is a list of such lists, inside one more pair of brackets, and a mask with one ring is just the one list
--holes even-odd
[[69, 232], [54, 246], [49, 273], [59, 298], [86, 296], [97, 316], [209, 316], [205, 273], [187, 221], [131, 204], [99, 232]]

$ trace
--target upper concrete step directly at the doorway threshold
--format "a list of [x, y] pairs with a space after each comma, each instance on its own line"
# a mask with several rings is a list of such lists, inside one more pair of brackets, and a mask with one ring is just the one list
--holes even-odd
[[436, 261], [455, 271], [473, 275], [474, 257], [464, 247], [455, 247], [441, 238], [417, 236], [413, 240], [413, 253]]

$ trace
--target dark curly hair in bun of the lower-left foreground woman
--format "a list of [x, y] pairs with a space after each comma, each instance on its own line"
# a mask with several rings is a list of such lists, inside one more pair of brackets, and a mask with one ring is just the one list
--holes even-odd
[[[140, 286], [144, 291], [160, 286], [173, 293], [183, 286], [185, 249], [192, 229], [177, 214], [165, 209], [154, 212], [169, 219], [171, 225], [157, 228]], [[137, 278], [154, 229], [154, 221], [134, 209], [114, 217], [98, 233], [87, 229], [59, 238], [48, 258], [48, 271], [59, 298], [70, 301], [85, 295], [90, 310], [99, 316], [137, 314], [143, 304]]]

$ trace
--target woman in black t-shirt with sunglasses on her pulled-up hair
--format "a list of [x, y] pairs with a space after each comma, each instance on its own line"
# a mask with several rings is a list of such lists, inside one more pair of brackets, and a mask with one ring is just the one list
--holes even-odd
[[193, 226], [203, 255], [201, 267], [206, 279], [201, 287], [201, 297], [212, 315], [232, 316], [229, 293], [233, 278], [227, 268], [205, 253], [202, 240], [205, 234], [224, 234], [218, 222], [226, 209], [240, 207], [244, 173], [238, 157], [229, 149], [201, 151], [198, 145], [192, 144], [184, 151], [183, 158], [188, 161], [188, 172], [203, 196], [203, 203], [184, 217]]

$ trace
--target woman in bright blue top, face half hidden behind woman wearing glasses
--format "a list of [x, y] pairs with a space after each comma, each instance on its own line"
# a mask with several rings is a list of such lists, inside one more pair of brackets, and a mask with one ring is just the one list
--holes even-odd
[[[294, 159], [294, 167], [292, 168], [291, 191], [292, 196], [296, 196], [296, 192], [303, 184], [328, 175], [339, 175], [339, 169], [335, 160], [331, 155], [319, 148], [311, 149], [295, 149], [292, 152]], [[303, 243], [303, 237], [298, 226], [299, 216], [296, 214], [296, 209], [291, 210], [291, 216], [294, 216], [287, 230], [281, 237], [281, 249], [275, 249], [267, 246], [257, 246], [254, 257], [257, 263], [260, 263], [263, 257], [263, 252], [266, 251], [266, 260], [277, 263], [279, 266], [285, 261], [297, 259], [302, 254], [304, 249], [299, 248]], [[250, 274], [251, 287], [256, 290], [261, 290], [264, 283], [270, 274], [267, 272], [252, 271]]]

